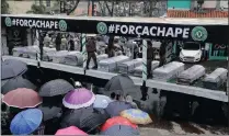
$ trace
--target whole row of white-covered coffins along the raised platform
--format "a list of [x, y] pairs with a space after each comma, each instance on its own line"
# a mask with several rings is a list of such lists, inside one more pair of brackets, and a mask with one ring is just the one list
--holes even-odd
[[[36, 59], [36, 53], [38, 46], [28, 47], [18, 47], [13, 49], [13, 56], [26, 57], [31, 59]], [[107, 55], [98, 55], [98, 64], [100, 71], [106, 72], [121, 72], [129, 73], [136, 77], [142, 76], [142, 59], [130, 59], [127, 56], [116, 56], [107, 58]], [[56, 52], [55, 48], [44, 47], [43, 59], [46, 61], [53, 61], [58, 64], [66, 64], [71, 66], [81, 67], [83, 64], [83, 56], [80, 52], [68, 52], [60, 50]], [[93, 61], [90, 61], [90, 67], [93, 66]], [[205, 67], [201, 65], [194, 65], [193, 67], [185, 70], [185, 65], [179, 61], [169, 63], [162, 67], [158, 67], [159, 61], [153, 60], [151, 65], [151, 70], [153, 73], [153, 79], [168, 81], [170, 79], [176, 79], [178, 83], [192, 84], [198, 79], [204, 79], [203, 86], [208, 89], [218, 89], [227, 80], [228, 70], [225, 68], [217, 68], [211, 73], [206, 75]]]

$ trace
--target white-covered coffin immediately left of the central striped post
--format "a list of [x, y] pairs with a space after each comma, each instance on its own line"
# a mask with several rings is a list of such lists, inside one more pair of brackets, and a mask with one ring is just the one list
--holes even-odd
[[133, 59], [129, 61], [125, 61], [119, 64], [118, 67], [118, 72], [121, 73], [129, 73], [133, 72], [135, 70], [136, 67], [141, 66], [142, 64], [142, 59], [141, 58], [137, 58], [137, 59]]

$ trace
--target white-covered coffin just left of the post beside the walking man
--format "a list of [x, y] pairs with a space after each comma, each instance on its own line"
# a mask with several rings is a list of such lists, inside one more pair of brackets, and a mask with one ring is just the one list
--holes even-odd
[[71, 66], [82, 66], [83, 56], [80, 52], [69, 52], [64, 58], [64, 64]]

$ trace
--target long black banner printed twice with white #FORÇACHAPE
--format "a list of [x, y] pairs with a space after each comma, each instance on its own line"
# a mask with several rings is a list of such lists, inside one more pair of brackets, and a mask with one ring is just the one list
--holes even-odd
[[228, 25], [188, 25], [163, 23], [129, 23], [61, 18], [1, 16], [3, 26], [47, 31], [94, 33], [128, 37], [228, 44]]

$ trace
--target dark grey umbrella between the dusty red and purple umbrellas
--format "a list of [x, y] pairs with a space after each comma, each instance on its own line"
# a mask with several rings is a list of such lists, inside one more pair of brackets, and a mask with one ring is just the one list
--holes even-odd
[[73, 90], [73, 86], [70, 84], [68, 81], [64, 79], [56, 79], [46, 82], [44, 86], [39, 89], [39, 95], [41, 97], [54, 97], [54, 95], [60, 95], [66, 94], [70, 90]]

